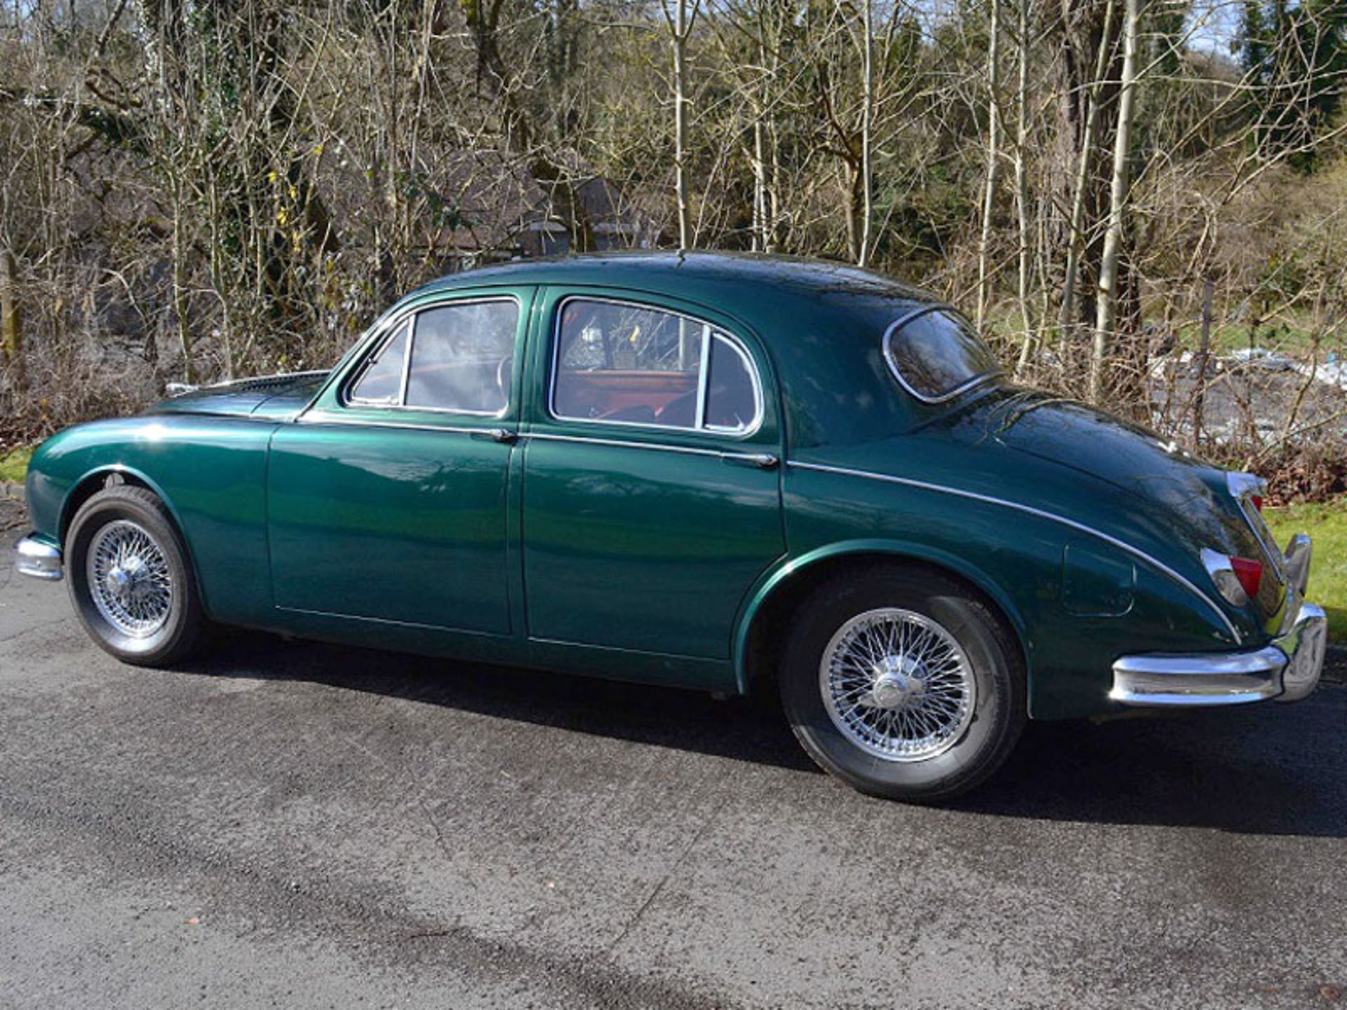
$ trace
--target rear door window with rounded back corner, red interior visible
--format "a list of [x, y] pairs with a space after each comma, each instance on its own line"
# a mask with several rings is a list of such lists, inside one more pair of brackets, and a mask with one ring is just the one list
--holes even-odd
[[552, 413], [567, 420], [742, 434], [761, 415], [753, 364], [711, 323], [624, 302], [562, 304]]

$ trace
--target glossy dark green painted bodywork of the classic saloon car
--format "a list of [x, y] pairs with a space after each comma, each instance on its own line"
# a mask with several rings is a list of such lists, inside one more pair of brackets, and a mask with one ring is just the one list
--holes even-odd
[[[552, 419], [554, 308], [575, 292], [734, 333], [762, 373], [762, 426], [735, 439]], [[527, 366], [505, 415], [342, 404], [387, 326], [484, 294], [523, 310]], [[1249, 547], [1222, 471], [999, 382], [915, 400], [880, 334], [924, 300], [768, 257], [485, 268], [403, 299], [329, 376], [61, 432], [34, 455], [31, 514], [59, 541], [79, 494], [121, 470], [168, 504], [221, 622], [713, 689], [748, 687], [750, 628], [777, 594], [849, 556], [920, 559], [979, 586], [1020, 637], [1039, 718], [1107, 711], [1119, 654], [1269, 638], [1276, 615], [1222, 602], [1197, 560]], [[783, 465], [746, 459], [764, 454]]]

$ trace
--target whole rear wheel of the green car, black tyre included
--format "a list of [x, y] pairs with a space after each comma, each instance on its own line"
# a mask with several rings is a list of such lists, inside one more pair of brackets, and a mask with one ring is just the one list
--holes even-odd
[[1020, 650], [966, 586], [925, 568], [849, 574], [795, 615], [780, 669], [791, 729], [826, 772], [865, 793], [956, 796], [1014, 749]]

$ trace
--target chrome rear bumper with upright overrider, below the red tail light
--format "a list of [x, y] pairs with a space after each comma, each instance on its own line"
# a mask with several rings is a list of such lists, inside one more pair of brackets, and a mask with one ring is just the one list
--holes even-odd
[[1286, 547], [1286, 613], [1294, 619], [1268, 645], [1246, 652], [1123, 656], [1113, 664], [1109, 698], [1127, 706], [1183, 707], [1299, 702], [1309, 695], [1328, 646], [1323, 607], [1301, 601], [1309, 555], [1308, 536], [1297, 535]]

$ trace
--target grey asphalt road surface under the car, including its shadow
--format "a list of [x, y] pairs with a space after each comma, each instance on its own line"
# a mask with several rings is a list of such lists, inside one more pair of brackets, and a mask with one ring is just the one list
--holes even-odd
[[4, 1007], [1347, 1006], [1347, 688], [1030, 726], [943, 809], [770, 706], [232, 636], [0, 571]]

